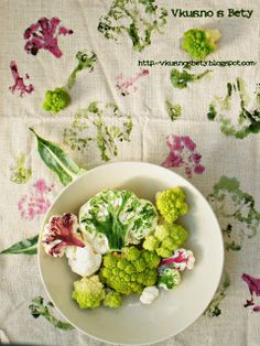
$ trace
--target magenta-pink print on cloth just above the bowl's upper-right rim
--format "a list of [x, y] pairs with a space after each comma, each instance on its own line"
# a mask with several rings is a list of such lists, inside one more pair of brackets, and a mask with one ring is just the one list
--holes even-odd
[[205, 166], [201, 164], [202, 155], [196, 152], [196, 144], [188, 136], [170, 134], [166, 138], [166, 145], [170, 149], [167, 158], [162, 165], [165, 167], [184, 167], [187, 177], [193, 173], [202, 174]]

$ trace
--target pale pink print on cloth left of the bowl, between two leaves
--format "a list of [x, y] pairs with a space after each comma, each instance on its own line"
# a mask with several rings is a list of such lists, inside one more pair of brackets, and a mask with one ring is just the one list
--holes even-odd
[[47, 194], [53, 187], [54, 184], [47, 185], [43, 179], [37, 180], [32, 192], [23, 195], [18, 202], [21, 218], [32, 220], [36, 215], [45, 214], [51, 206]]

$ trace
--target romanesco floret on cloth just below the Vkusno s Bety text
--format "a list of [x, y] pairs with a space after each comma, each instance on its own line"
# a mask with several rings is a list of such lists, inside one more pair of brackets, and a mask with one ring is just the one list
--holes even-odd
[[216, 50], [216, 42], [220, 36], [217, 29], [191, 29], [183, 35], [182, 48], [194, 60], [204, 60]]

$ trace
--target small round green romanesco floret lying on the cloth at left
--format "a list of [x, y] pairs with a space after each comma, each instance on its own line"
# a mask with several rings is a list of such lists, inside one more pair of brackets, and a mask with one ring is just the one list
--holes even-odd
[[47, 90], [45, 94], [45, 100], [43, 109], [57, 113], [59, 110], [67, 107], [71, 102], [71, 97], [64, 88], [56, 88], [54, 90]]

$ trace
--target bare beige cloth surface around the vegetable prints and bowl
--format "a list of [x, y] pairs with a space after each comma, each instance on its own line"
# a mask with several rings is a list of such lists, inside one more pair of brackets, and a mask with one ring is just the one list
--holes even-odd
[[[115, 101], [122, 111], [133, 117], [131, 142], [118, 145], [119, 154], [112, 161], [145, 161], [161, 164], [169, 150], [165, 138], [170, 133], [189, 136], [202, 153], [206, 171], [193, 175], [192, 183], [206, 196], [221, 175], [236, 176], [241, 188], [254, 196], [256, 209], [260, 210], [260, 136], [250, 134], [243, 140], [226, 137], [216, 121], [209, 122], [206, 113], [214, 95], [223, 95], [226, 83], [242, 77], [252, 94], [259, 79], [259, 63], [256, 66], [213, 67], [210, 77], [186, 89], [174, 89], [170, 83], [169, 66], [148, 67], [149, 76], [140, 78], [136, 93], [122, 97], [116, 89], [116, 77], [122, 73], [132, 77], [140, 67], [139, 60], [186, 61], [181, 51], [178, 37], [193, 26], [217, 26], [223, 39], [214, 60], [240, 60], [259, 62], [259, 14], [260, 2], [254, 1], [158, 1], [169, 10], [228, 8], [252, 9], [250, 19], [245, 18], [174, 18], [169, 13], [165, 33], [152, 35], [152, 44], [142, 53], [134, 52], [130, 40], [122, 36], [121, 43], [106, 40], [97, 31], [99, 18], [108, 12], [111, 1], [47, 0], [47, 1], [0, 1], [0, 249], [35, 235], [42, 216], [32, 220], [21, 219], [18, 210], [20, 197], [32, 191], [33, 183], [44, 177], [53, 191], [50, 201], [62, 190], [57, 177], [46, 169], [36, 153], [35, 140], [28, 128], [34, 127], [43, 138], [62, 143], [63, 130], [72, 123], [75, 112], [93, 100]], [[74, 33], [58, 37], [63, 52], [56, 58], [48, 51], [41, 50], [36, 56], [24, 52], [24, 30], [37, 19], [57, 17]], [[78, 75], [72, 89], [72, 105], [56, 117], [46, 113], [41, 104], [46, 89], [66, 83], [66, 76], [75, 66], [77, 51], [88, 48], [98, 56], [91, 74]], [[35, 91], [20, 98], [12, 95], [13, 84], [9, 68], [10, 61], [18, 63], [22, 76], [28, 73]], [[194, 69], [196, 71], [196, 69]], [[202, 69], [201, 69], [202, 71]], [[183, 107], [180, 120], [169, 119], [164, 100]], [[108, 119], [109, 121], [109, 119]], [[65, 148], [74, 160], [86, 169], [102, 164], [95, 144], [86, 152]], [[19, 153], [25, 152], [32, 166], [32, 177], [28, 184], [10, 182], [10, 165]], [[175, 171], [185, 176], [184, 171]], [[260, 235], [245, 241], [239, 252], [227, 252], [226, 269], [232, 284], [221, 303], [223, 313], [218, 317], [201, 316], [183, 333], [160, 343], [162, 346], [258, 346], [260, 344], [260, 313], [246, 310], [242, 304], [249, 296], [240, 277], [248, 272], [260, 277]], [[32, 343], [41, 345], [102, 345], [77, 331], [65, 332], [54, 328], [42, 317], [34, 320], [28, 310], [31, 300], [46, 298], [37, 272], [36, 257], [0, 257], [0, 343]], [[160, 318], [160, 316], [159, 316]]]

